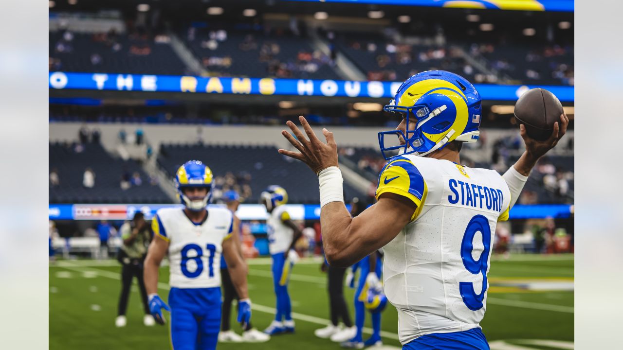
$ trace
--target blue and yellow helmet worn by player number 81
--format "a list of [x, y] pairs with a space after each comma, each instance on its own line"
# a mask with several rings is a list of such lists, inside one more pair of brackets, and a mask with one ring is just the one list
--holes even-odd
[[[178, 189], [179, 201], [184, 206], [189, 210], [203, 210], [212, 198], [212, 171], [200, 161], [188, 161], [175, 174], [175, 187]], [[191, 201], [184, 195], [185, 187], [207, 187], [207, 195], [201, 200]]]

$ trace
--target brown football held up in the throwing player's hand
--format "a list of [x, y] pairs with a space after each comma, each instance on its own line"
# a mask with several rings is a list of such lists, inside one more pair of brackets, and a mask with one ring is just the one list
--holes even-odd
[[535, 140], [547, 140], [561, 114], [563, 105], [558, 97], [544, 88], [526, 91], [515, 103], [517, 124], [525, 125], [528, 136]]

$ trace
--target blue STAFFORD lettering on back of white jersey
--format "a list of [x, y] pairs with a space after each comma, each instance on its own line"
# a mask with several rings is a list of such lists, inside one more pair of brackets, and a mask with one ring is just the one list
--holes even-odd
[[504, 195], [501, 189], [495, 189], [477, 184], [470, 184], [467, 181], [449, 179], [448, 184], [452, 194], [448, 196], [450, 204], [461, 206], [502, 211]]

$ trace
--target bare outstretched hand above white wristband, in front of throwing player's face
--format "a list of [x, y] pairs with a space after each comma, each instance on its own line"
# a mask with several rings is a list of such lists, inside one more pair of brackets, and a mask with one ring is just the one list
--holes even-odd
[[338, 166], [338, 145], [335, 143], [333, 133], [326, 129], [322, 130], [322, 133], [325, 135], [326, 139], [326, 143], [324, 143], [318, 140], [316, 134], [312, 130], [312, 127], [309, 123], [307, 123], [307, 120], [305, 120], [303, 116], [299, 116], [298, 120], [301, 122], [301, 125], [303, 126], [305, 133], [307, 133], [309, 140], [305, 138], [303, 133], [294, 123], [292, 123], [292, 121], [288, 120], [286, 125], [290, 127], [290, 130], [292, 130], [292, 133], [294, 133], [296, 138], [285, 130], [281, 131], [281, 135], [287, 138], [287, 140], [292, 143], [292, 146], [297, 148], [300, 153], [287, 151], [285, 149], [279, 149], [279, 153], [302, 161], [316, 174], [320, 173], [323, 169], [329, 168], [330, 166]]

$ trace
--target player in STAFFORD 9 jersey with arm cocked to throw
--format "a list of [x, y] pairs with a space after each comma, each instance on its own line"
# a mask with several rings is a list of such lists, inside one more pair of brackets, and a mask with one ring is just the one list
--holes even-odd
[[[487, 303], [491, 243], [498, 221], [507, 220], [536, 161], [564, 135], [566, 115], [546, 141], [520, 134], [526, 151], [503, 176], [460, 164], [464, 142], [478, 140], [481, 99], [457, 74], [418, 73], [398, 88], [384, 110], [402, 117], [394, 131], [379, 133], [389, 159], [379, 175], [378, 202], [352, 218], [343, 199], [333, 133], [326, 143], [299, 117], [282, 135], [320, 182], [320, 222], [328, 262], [348, 266], [383, 248], [384, 290], [398, 311], [403, 349], [489, 349], [480, 321]], [[385, 136], [397, 136], [386, 146]], [[296, 138], [295, 138], [296, 137]], [[394, 158], [388, 151], [399, 151]]]

